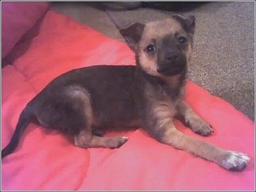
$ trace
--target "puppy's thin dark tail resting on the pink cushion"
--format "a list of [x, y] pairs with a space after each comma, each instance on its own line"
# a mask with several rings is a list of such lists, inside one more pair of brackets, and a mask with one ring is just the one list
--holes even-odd
[[22, 133], [24, 132], [26, 126], [28, 126], [31, 116], [32, 114], [27, 107], [22, 110], [10, 143], [1, 151], [1, 159], [11, 154], [17, 148]]

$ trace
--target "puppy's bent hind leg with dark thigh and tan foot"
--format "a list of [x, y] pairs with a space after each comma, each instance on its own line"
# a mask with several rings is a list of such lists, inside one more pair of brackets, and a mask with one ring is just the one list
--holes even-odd
[[65, 87], [40, 105], [36, 114], [38, 121], [45, 127], [70, 135], [78, 147], [116, 148], [128, 139], [99, 137], [102, 133], [92, 128], [93, 109], [90, 93], [79, 85]]

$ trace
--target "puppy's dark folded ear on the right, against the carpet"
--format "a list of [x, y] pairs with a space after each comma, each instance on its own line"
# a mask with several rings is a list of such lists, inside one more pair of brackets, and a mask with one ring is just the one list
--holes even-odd
[[182, 27], [191, 34], [195, 33], [195, 15], [189, 15], [188, 17], [184, 17], [182, 15], [172, 15], [172, 18], [175, 18], [182, 24]]

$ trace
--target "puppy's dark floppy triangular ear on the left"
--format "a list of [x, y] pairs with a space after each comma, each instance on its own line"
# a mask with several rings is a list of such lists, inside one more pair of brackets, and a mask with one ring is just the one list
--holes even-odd
[[138, 42], [141, 39], [141, 35], [143, 33], [143, 29], [145, 27], [145, 24], [135, 23], [131, 24], [131, 26], [126, 27], [124, 29], [120, 29], [120, 33], [124, 37], [127, 45], [135, 52], [136, 51], [136, 45], [138, 45]]

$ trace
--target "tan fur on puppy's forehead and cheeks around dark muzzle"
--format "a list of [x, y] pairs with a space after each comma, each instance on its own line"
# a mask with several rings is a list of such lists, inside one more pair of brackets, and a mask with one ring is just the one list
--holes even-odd
[[155, 44], [161, 41], [165, 36], [175, 36], [176, 33], [182, 34], [188, 38], [188, 50], [186, 51], [187, 62], [189, 61], [192, 53], [192, 37], [180, 25], [180, 23], [173, 18], [166, 18], [166, 20], [159, 20], [157, 22], [149, 22], [145, 25], [143, 34], [141, 36], [140, 45], [138, 49], [138, 59], [141, 64], [141, 68], [150, 75], [156, 77], [163, 77], [163, 75], [157, 73], [157, 57], [156, 55], [150, 56], [145, 52], [145, 49], [150, 44]]

